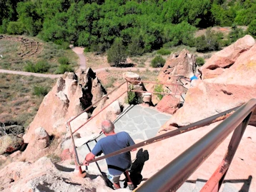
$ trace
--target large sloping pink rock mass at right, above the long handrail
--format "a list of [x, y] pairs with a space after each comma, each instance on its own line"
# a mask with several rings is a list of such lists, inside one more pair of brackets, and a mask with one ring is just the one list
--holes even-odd
[[[227, 56], [232, 56], [233, 60], [230, 59], [232, 64], [226, 65], [229, 67], [223, 69], [222, 74], [215, 76], [215, 78], [211, 76], [211, 79], [207, 79], [210, 69], [202, 66], [204, 80], [198, 81], [195, 87], [187, 91], [184, 106], [179, 108], [163, 128], [185, 126], [235, 106], [240, 106], [249, 101], [250, 98], [256, 98], [256, 45], [252, 44], [254, 42], [251, 36], [245, 36], [220, 51], [222, 54], [219, 52], [212, 56], [207, 61], [207, 66], [211, 66], [210, 61], [214, 61], [215, 66], [221, 64], [223, 58], [219, 56], [224, 53]], [[239, 49], [240, 51], [235, 51], [238, 49], [237, 47], [242, 48]], [[237, 49], [234, 50], [234, 48]]]

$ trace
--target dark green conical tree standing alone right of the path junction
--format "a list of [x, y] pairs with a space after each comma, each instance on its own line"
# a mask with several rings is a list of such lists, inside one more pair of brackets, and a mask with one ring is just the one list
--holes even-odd
[[114, 40], [114, 44], [107, 51], [107, 61], [111, 66], [119, 66], [127, 61], [126, 49], [122, 44], [122, 39]]

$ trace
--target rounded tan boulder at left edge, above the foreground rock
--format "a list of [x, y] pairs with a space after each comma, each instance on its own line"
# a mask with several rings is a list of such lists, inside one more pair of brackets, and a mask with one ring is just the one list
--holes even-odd
[[0, 137], [0, 155], [4, 153], [12, 153], [19, 150], [23, 145], [24, 140], [13, 134], [5, 135]]

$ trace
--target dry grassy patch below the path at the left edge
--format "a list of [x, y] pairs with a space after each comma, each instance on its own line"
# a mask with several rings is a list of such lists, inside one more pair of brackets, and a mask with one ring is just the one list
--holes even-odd
[[[0, 74], [0, 121], [29, 126], [56, 79]], [[41, 88], [41, 89], [40, 89]]]

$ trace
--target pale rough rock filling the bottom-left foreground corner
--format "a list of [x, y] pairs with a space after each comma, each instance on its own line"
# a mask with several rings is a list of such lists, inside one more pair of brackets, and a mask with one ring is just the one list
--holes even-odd
[[[74, 168], [54, 165], [49, 158], [40, 158], [35, 163], [14, 162], [0, 171], [0, 190], [21, 191], [113, 191], [105, 186], [98, 176], [87, 174], [79, 177]], [[62, 171], [63, 170], [63, 171]], [[70, 172], [71, 171], [71, 172]], [[127, 191], [127, 190], [126, 190]]]

